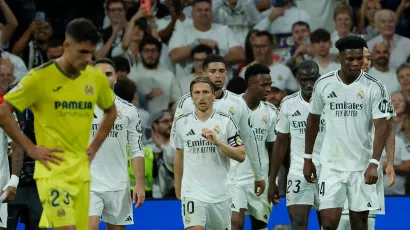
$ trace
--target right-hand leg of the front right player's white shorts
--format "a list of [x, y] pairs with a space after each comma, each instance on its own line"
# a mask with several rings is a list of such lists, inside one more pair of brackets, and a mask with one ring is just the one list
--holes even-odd
[[380, 208], [376, 185], [364, 183], [364, 171], [351, 172], [348, 178], [349, 210], [363, 212]]

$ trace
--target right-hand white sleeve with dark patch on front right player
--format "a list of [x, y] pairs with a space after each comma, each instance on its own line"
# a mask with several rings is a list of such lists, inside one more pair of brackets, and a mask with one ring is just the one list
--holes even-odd
[[374, 87], [370, 95], [370, 106], [372, 108], [373, 120], [388, 118], [393, 113], [393, 106], [389, 99], [389, 93], [383, 85]]

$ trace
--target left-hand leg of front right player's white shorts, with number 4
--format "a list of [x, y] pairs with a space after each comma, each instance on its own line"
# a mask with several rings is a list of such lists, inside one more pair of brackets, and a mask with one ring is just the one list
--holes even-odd
[[320, 210], [343, 208], [347, 198], [346, 179], [344, 178], [343, 172], [322, 167], [318, 190]]

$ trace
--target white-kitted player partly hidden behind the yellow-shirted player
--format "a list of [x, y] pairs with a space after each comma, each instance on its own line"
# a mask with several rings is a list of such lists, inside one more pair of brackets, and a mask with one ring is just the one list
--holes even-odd
[[[117, 82], [114, 62], [101, 58], [94, 62], [94, 66], [103, 71], [111, 88], [114, 88]], [[118, 96], [115, 96], [114, 103], [117, 108], [117, 119], [91, 163], [90, 230], [98, 230], [100, 216], [106, 222], [107, 229], [125, 229], [125, 225], [134, 223], [127, 146], [136, 176], [133, 190], [134, 201], [138, 196], [136, 207], [140, 207], [145, 200], [141, 120], [137, 108], [131, 103]], [[103, 114], [103, 110], [96, 106], [91, 138], [98, 130]]]

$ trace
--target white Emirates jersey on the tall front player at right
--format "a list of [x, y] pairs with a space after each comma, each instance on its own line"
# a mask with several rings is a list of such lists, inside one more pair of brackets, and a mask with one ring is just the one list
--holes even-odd
[[339, 171], [364, 171], [371, 158], [369, 133], [373, 120], [391, 113], [386, 87], [367, 73], [350, 85], [338, 71], [320, 77], [314, 87], [310, 112], [326, 120], [320, 163]]

